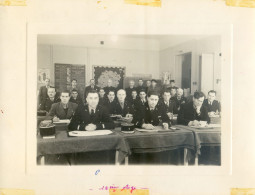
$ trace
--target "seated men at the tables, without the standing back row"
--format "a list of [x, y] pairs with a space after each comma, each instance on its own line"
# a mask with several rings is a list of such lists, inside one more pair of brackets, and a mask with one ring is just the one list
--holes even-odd
[[113, 129], [111, 114], [132, 118], [132, 123], [139, 128], [153, 129], [162, 125], [168, 129], [173, 114], [178, 114], [177, 121], [183, 125], [198, 125], [199, 121], [210, 123], [208, 112], [220, 112], [220, 104], [214, 100], [215, 95], [215, 91], [209, 91], [208, 99], [204, 100], [205, 95], [202, 92], [195, 92], [193, 100], [189, 102], [183, 97], [182, 89], [178, 89], [175, 97], [171, 97], [170, 91], [165, 90], [162, 98], [157, 91], [146, 94], [146, 91], [141, 90], [139, 98], [133, 100], [127, 98], [123, 89], [117, 91], [117, 97], [113, 90], [109, 90], [107, 98], [103, 93], [91, 89], [84, 105], [82, 102], [75, 102], [78, 93], [73, 90], [71, 97], [69, 92], [61, 92], [60, 102], [53, 103], [50, 107], [50, 101], [56, 100], [56, 92], [54, 88], [49, 88], [48, 101], [43, 105], [45, 108], [50, 107], [46, 119], [71, 119], [70, 130]]

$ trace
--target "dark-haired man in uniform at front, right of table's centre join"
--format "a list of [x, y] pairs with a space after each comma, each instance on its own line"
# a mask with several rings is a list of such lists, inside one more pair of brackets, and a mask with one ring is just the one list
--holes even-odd
[[149, 130], [159, 125], [162, 125], [164, 129], [168, 129], [171, 126], [170, 119], [164, 109], [157, 106], [158, 100], [159, 94], [157, 92], [150, 91], [148, 93], [145, 106], [139, 107], [132, 121], [136, 127]]

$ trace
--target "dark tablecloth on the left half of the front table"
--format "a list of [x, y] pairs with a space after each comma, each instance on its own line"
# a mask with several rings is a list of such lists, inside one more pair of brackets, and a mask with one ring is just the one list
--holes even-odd
[[57, 131], [55, 139], [37, 137], [37, 156], [114, 149], [119, 151], [119, 162], [130, 154], [124, 138], [116, 132], [102, 136], [69, 137], [66, 131]]

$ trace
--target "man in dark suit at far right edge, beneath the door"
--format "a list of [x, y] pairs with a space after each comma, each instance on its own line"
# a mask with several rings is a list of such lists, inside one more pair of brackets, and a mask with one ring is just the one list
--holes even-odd
[[207, 108], [209, 115], [219, 114], [221, 112], [220, 102], [215, 100], [216, 91], [211, 90], [208, 92], [208, 99], [204, 101], [204, 106]]

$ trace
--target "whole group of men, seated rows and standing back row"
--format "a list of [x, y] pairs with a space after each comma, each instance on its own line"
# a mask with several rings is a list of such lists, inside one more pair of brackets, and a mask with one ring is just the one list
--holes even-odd
[[138, 128], [154, 129], [161, 125], [168, 129], [175, 114], [178, 124], [196, 126], [199, 121], [210, 123], [209, 116], [221, 111], [220, 103], [215, 100], [216, 91], [209, 91], [208, 99], [203, 92], [197, 91], [189, 101], [174, 81], [162, 88], [154, 79], [146, 84], [145, 87], [139, 79], [135, 87], [131, 80], [128, 88], [116, 89], [109, 80], [105, 88], [99, 88], [91, 79], [81, 94], [74, 79], [70, 90], [62, 91], [58, 97], [47, 79], [46, 85], [40, 88], [39, 110], [47, 112], [46, 120], [70, 119], [69, 130], [87, 131], [114, 129], [111, 115], [129, 118]]

